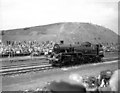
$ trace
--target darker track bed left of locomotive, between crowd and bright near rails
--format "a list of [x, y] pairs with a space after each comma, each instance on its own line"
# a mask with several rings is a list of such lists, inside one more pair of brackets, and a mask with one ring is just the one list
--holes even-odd
[[46, 60], [46, 57], [20, 57], [20, 58], [11, 58], [2, 60], [2, 69], [11, 69], [11, 68], [21, 68], [37, 65], [46, 65], [48, 61], [41, 62], [41, 60]]

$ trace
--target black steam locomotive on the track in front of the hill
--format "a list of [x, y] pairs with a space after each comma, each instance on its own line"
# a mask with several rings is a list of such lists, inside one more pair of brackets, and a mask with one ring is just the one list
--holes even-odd
[[55, 44], [49, 63], [53, 66], [67, 66], [101, 62], [104, 51], [101, 44], [84, 42], [79, 44]]

